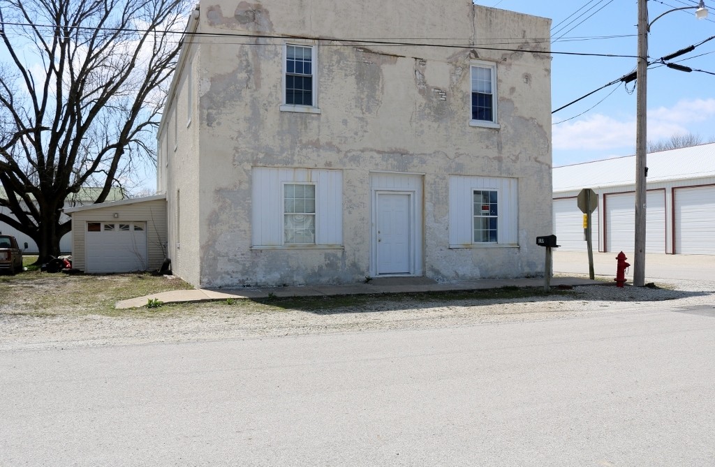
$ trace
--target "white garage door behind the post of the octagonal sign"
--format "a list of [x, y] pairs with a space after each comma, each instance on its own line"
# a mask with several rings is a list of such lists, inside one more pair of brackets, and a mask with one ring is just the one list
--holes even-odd
[[[598, 251], [598, 208], [591, 214], [591, 242]], [[553, 200], [553, 234], [561, 245], [559, 250], [586, 251], [583, 240], [583, 212], [576, 205], [576, 198]]]

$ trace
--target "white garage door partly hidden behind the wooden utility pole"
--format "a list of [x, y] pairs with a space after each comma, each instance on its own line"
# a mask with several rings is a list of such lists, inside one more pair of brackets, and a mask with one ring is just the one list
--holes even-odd
[[[635, 247], [636, 194], [605, 195], [606, 251], [633, 252]], [[646, 252], [666, 252], [665, 190], [646, 195]]]

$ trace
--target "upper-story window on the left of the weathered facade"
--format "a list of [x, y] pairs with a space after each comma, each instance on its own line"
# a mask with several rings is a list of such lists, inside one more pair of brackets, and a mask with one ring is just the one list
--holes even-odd
[[317, 109], [315, 46], [285, 44], [281, 110], [320, 113]]

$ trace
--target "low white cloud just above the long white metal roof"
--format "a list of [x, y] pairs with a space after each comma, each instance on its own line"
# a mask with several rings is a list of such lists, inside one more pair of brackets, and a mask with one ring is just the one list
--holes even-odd
[[[715, 99], [687, 99], [677, 102], [673, 107], [649, 109], [648, 139], [657, 141], [674, 134], [699, 134], [699, 124], [710, 119], [715, 119]], [[715, 124], [710, 127], [715, 127]], [[554, 150], [605, 151], [633, 148], [635, 145], [634, 115], [616, 119], [592, 114], [585, 119], [553, 127]]]

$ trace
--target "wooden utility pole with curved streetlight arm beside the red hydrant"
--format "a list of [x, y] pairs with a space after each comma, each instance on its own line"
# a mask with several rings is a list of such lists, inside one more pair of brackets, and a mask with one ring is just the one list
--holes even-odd
[[636, 237], [633, 256], [633, 285], [643, 287], [646, 282], [646, 127], [648, 90], [648, 33], [651, 26], [673, 11], [694, 9], [697, 19], [706, 19], [705, 1], [698, 6], [684, 6], [666, 11], [648, 22], [648, 0], [638, 0], [638, 93], [636, 94]]

